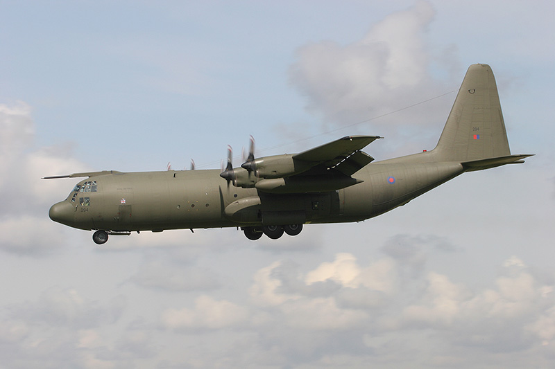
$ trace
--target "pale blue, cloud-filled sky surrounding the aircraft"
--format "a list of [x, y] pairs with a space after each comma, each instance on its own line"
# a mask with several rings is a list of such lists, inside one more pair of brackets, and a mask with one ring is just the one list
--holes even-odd
[[[552, 368], [552, 1], [0, 0], [0, 368]], [[89, 170], [432, 149], [470, 64], [523, 165], [251, 242], [51, 222]], [[371, 165], [371, 164], [370, 164]]]

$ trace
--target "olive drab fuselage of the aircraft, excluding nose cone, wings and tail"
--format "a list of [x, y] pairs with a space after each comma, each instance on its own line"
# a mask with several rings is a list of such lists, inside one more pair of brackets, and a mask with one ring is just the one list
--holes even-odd
[[[70, 193], [65, 201], [74, 217], [67, 225], [123, 232], [357, 222], [406, 204], [462, 172], [460, 163], [375, 163], [356, 174], [363, 181], [355, 186], [279, 195], [228, 186], [218, 170], [104, 174], [81, 181]], [[85, 192], [90, 182], [96, 191]]]

